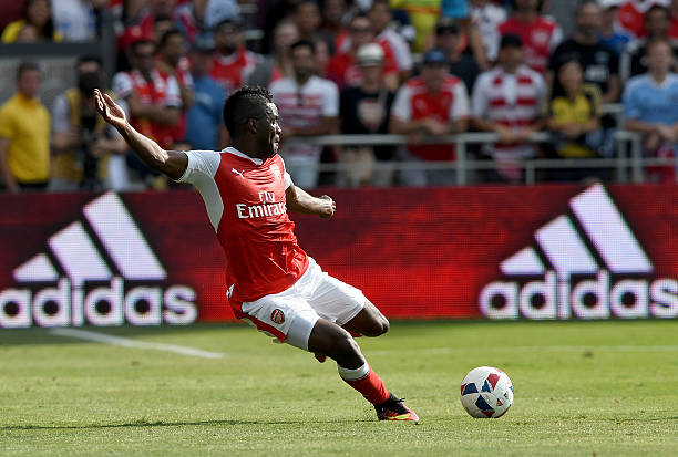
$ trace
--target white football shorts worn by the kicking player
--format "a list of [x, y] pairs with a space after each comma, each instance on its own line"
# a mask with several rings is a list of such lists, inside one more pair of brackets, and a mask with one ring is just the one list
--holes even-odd
[[242, 310], [259, 331], [308, 351], [318, 319], [343, 325], [362, 310], [366, 300], [361, 290], [330, 277], [309, 257], [308, 270], [294, 285], [244, 302]]

